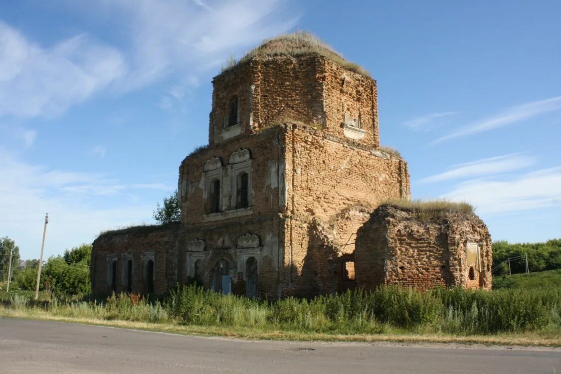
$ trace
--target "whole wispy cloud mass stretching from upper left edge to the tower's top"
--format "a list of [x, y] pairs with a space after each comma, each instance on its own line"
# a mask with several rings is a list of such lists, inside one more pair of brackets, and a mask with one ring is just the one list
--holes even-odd
[[[101, 13], [125, 33], [119, 48], [88, 33], [44, 47], [0, 21], [0, 117], [54, 117], [100, 91], [125, 93], [174, 81], [163, 106], [181, 102], [201, 72], [234, 52], [295, 26], [283, 0], [98, 0], [75, 11]], [[109, 24], [109, 25], [107, 25]]]

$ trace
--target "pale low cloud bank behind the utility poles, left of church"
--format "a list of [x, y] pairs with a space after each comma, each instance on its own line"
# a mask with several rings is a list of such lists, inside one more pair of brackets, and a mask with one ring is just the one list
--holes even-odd
[[[100, 173], [51, 170], [0, 151], [0, 235], [14, 239], [24, 258], [39, 256], [45, 212], [48, 257], [93, 241], [101, 230], [152, 221], [161, 191], [174, 190], [158, 182], [123, 184]], [[139, 202], [131, 195], [141, 190], [157, 191], [158, 198]]]

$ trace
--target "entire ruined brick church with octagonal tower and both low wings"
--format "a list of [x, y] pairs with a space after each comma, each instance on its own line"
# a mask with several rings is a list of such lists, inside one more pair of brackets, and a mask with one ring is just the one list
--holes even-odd
[[179, 168], [181, 223], [94, 241], [94, 295], [196, 280], [276, 299], [384, 284], [490, 288], [473, 213], [419, 219], [407, 163], [380, 147], [376, 81], [314, 37], [265, 41], [213, 80], [209, 144]]

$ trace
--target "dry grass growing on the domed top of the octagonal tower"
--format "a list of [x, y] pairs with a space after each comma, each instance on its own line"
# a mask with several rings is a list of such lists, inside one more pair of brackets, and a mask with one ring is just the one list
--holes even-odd
[[252, 49], [246, 56], [237, 61], [231, 57], [226, 66], [222, 67], [222, 72], [231, 70], [239, 64], [245, 63], [254, 57], [268, 56], [301, 56], [302, 54], [316, 53], [327, 57], [342, 67], [357, 72], [364, 76], [370, 74], [356, 63], [347, 61], [336, 52], [332, 47], [314, 34], [298, 30], [291, 34], [282, 34], [272, 39], [266, 39], [259, 47]]

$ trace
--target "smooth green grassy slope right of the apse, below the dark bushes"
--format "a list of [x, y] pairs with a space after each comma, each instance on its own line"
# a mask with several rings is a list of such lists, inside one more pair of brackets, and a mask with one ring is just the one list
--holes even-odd
[[541, 289], [549, 287], [561, 289], [561, 269], [513, 274], [512, 278], [508, 275], [493, 277], [493, 289]]

